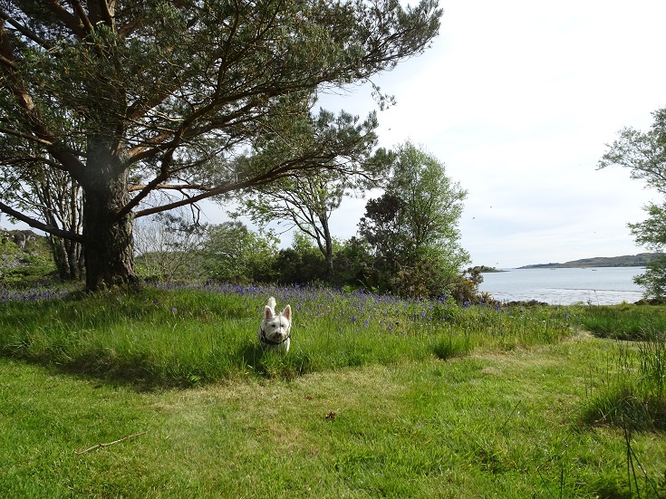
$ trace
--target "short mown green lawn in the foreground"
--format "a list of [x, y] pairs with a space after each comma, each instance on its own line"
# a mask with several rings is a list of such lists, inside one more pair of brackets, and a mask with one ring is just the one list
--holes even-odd
[[[0, 360], [0, 495], [631, 497], [622, 432], [578, 419], [610, 347], [149, 391]], [[663, 439], [632, 447], [662, 476]]]

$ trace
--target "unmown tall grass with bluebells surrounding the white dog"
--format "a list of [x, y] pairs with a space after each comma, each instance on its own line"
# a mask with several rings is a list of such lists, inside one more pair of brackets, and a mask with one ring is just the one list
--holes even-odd
[[[256, 330], [268, 296], [294, 311], [288, 355], [264, 351]], [[0, 304], [0, 351], [110, 379], [193, 385], [431, 357], [511, 350], [574, 331], [557, 307], [458, 307], [302, 287], [157, 284], [138, 293], [22, 296]]]

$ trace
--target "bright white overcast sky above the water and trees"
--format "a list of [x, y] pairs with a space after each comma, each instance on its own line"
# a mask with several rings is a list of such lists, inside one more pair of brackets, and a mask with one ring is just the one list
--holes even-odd
[[[468, 189], [461, 243], [474, 264], [516, 267], [636, 254], [628, 222], [653, 191], [621, 168], [596, 170], [624, 126], [647, 129], [666, 106], [663, 0], [440, 0], [439, 36], [375, 82], [381, 146], [410, 139]], [[323, 98], [364, 117], [367, 89]], [[208, 221], [224, 212], [207, 206]], [[356, 233], [364, 200], [333, 214]], [[6, 226], [5, 217], [3, 225]], [[285, 245], [290, 242], [285, 237]]]

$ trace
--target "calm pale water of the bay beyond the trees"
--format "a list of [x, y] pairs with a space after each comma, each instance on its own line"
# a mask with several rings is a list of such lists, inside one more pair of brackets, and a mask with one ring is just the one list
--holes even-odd
[[642, 267], [598, 267], [593, 269], [508, 269], [484, 273], [480, 292], [501, 301], [537, 300], [554, 305], [591, 302], [595, 305], [636, 302], [642, 288], [633, 283]]

